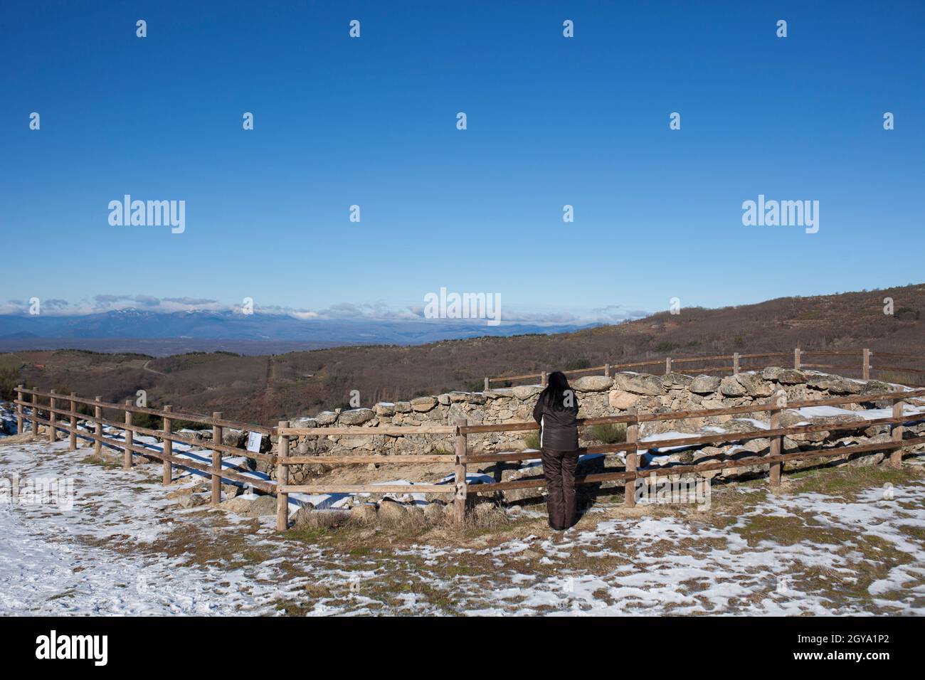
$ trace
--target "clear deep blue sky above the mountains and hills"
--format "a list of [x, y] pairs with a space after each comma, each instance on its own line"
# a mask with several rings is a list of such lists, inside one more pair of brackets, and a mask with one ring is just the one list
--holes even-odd
[[[919, 2], [0, 11], [0, 303], [446, 287], [586, 316], [921, 280]], [[110, 226], [125, 193], [185, 200], [186, 231]], [[743, 226], [759, 193], [818, 200], [819, 233]]]

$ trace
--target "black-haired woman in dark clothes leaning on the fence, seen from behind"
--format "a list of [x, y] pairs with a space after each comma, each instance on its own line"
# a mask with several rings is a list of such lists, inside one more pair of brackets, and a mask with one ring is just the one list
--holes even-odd
[[578, 400], [561, 371], [549, 374], [533, 418], [539, 424], [539, 449], [546, 476], [549, 526], [561, 531], [578, 521], [575, 469], [578, 467]]

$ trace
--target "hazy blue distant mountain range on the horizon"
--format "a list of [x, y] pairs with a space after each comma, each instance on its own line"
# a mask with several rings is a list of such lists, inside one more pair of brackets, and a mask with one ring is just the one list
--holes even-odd
[[[93, 315], [0, 315], [0, 350], [49, 346], [93, 345], [87, 340], [171, 339], [240, 340], [304, 344], [312, 348], [344, 344], [421, 344], [437, 340], [462, 340], [480, 336], [510, 337], [525, 333], [562, 333], [597, 326], [539, 326], [485, 321], [422, 319], [420, 321], [298, 319], [288, 315], [241, 315], [234, 312], [147, 312], [139, 309]], [[64, 340], [81, 340], [79, 343]], [[204, 345], [213, 346], [214, 342]], [[265, 348], [264, 348], [265, 349]]]

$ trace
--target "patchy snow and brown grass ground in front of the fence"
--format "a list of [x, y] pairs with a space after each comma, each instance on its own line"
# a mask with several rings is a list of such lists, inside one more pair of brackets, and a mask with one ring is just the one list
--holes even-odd
[[925, 614], [915, 476], [850, 500], [727, 489], [709, 520], [598, 505], [564, 535], [536, 523], [494, 543], [363, 548], [283, 538], [272, 517], [178, 510], [158, 465], [88, 453], [0, 446], [0, 478], [69, 477], [74, 491], [69, 510], [0, 503], [0, 614]]

